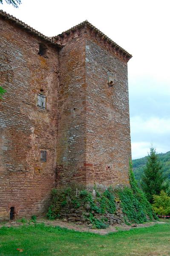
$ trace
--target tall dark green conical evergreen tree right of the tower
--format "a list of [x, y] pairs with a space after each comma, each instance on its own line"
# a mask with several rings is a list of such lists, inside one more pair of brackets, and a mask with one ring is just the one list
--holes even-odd
[[164, 189], [163, 181], [163, 171], [156, 155], [156, 149], [151, 146], [147, 164], [141, 177], [141, 187], [150, 203], [153, 203], [153, 195], [159, 195]]

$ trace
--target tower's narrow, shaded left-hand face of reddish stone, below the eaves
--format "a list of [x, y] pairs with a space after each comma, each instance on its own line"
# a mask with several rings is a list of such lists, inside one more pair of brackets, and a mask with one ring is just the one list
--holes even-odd
[[86, 183], [85, 161], [85, 38], [65, 35], [59, 52], [57, 186]]

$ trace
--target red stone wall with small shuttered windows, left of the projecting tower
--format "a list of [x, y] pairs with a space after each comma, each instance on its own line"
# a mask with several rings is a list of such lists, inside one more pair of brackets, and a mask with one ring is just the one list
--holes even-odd
[[[0, 18], [0, 219], [40, 215], [55, 186], [58, 51], [40, 38]], [[40, 89], [43, 92], [40, 92]], [[37, 107], [37, 94], [46, 96], [46, 110]], [[47, 161], [40, 161], [40, 151]]]

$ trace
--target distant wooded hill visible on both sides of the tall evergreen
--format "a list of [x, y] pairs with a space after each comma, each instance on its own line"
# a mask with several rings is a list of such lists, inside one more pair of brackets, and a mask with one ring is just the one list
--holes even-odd
[[[164, 175], [170, 180], [170, 151], [167, 153], [157, 154], [162, 165]], [[136, 180], [141, 179], [141, 175], [147, 163], [147, 156], [139, 159], [132, 160], [133, 172]]]

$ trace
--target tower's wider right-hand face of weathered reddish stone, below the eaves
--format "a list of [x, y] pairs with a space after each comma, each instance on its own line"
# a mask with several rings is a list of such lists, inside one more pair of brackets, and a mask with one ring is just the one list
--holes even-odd
[[86, 183], [127, 185], [131, 158], [127, 62], [89, 34], [86, 86]]

